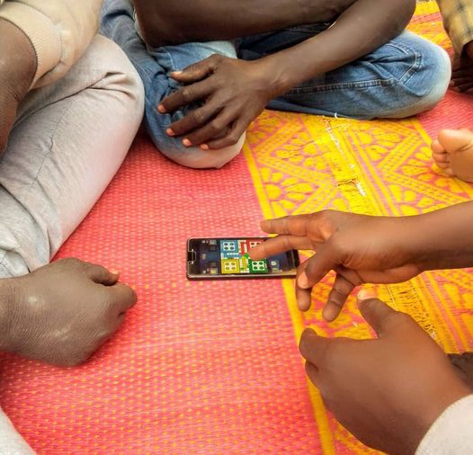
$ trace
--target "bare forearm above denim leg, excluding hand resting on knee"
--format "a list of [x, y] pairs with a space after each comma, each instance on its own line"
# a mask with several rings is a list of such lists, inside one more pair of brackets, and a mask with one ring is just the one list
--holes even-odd
[[276, 94], [378, 49], [404, 30], [414, 11], [415, 0], [358, 0], [326, 31], [266, 58]]

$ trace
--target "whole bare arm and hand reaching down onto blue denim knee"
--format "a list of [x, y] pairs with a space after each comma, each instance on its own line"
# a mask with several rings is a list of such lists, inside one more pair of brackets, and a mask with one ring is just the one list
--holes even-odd
[[166, 97], [159, 112], [206, 103], [171, 124], [168, 134], [204, 149], [236, 144], [269, 101], [379, 48], [404, 29], [414, 9], [415, 0], [357, 0], [332, 27], [291, 48], [252, 61], [214, 54], [173, 73], [186, 86]]

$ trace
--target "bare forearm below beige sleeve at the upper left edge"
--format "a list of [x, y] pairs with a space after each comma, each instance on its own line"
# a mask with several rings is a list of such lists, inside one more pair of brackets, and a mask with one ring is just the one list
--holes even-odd
[[18, 104], [30, 89], [36, 65], [31, 41], [13, 23], [0, 19], [0, 153], [6, 147]]

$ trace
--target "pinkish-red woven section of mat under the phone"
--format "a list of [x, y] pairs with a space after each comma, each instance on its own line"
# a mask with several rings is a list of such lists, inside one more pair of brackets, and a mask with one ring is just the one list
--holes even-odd
[[125, 325], [83, 367], [13, 356], [1, 403], [40, 453], [319, 451], [280, 281], [185, 279], [189, 236], [259, 234], [245, 158], [192, 171], [138, 138], [59, 256], [121, 271]]

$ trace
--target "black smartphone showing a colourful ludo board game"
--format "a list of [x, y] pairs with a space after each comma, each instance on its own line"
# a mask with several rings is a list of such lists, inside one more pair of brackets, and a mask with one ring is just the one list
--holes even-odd
[[293, 278], [299, 266], [296, 250], [253, 261], [248, 251], [268, 237], [189, 238], [187, 278]]

